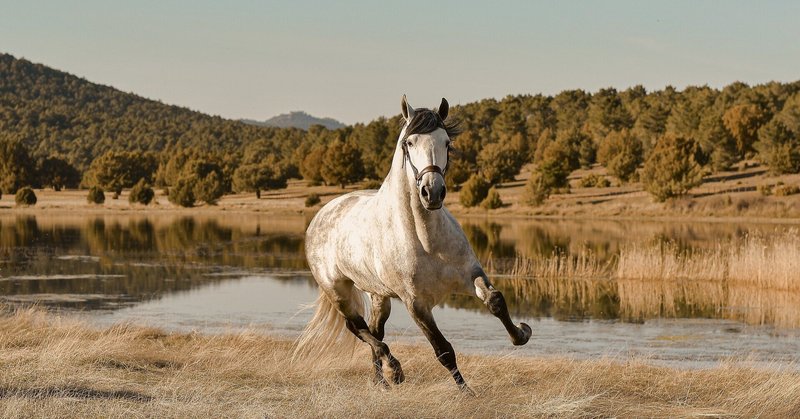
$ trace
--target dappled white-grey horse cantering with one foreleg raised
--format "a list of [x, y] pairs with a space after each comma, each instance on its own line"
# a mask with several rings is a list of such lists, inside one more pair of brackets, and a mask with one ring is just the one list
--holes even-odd
[[[434, 306], [451, 294], [475, 296], [500, 319], [514, 345], [530, 339], [530, 326], [511, 320], [503, 294], [444, 207], [449, 152], [458, 133], [447, 120], [449, 108], [442, 98], [436, 109], [414, 109], [403, 95], [404, 124], [380, 189], [333, 199], [309, 223], [306, 258], [320, 294], [293, 359], [325, 355], [346, 339], [347, 329], [371, 348], [376, 384], [389, 387], [384, 363], [392, 382], [402, 383], [400, 362], [383, 342], [392, 298], [405, 305], [436, 358], [468, 393], [453, 346], [436, 326]], [[363, 317], [367, 295], [369, 323]]]

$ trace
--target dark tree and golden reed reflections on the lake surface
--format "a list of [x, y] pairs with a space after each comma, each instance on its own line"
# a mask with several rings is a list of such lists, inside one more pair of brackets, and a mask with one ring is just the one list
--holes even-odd
[[[259, 273], [313, 286], [305, 272], [308, 219], [259, 214], [216, 216], [0, 216], [0, 300], [53, 307], [118, 308]], [[599, 263], [631, 242], [670, 242], [678, 249], [711, 248], [780, 225], [631, 221], [462, 220], [479, 258], [507, 272], [517, 257], [591, 253]], [[280, 279], [283, 278], [283, 279]], [[563, 321], [657, 317], [734, 319], [800, 327], [800, 299], [697, 281], [586, 278], [494, 279], [516, 316]], [[280, 298], [280, 296], [266, 296]], [[485, 312], [476, 298], [447, 306]], [[757, 305], [757, 308], [754, 306]]]

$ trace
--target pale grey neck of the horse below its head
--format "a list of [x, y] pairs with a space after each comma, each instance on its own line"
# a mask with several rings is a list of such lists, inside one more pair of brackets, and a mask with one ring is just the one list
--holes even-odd
[[417, 237], [426, 251], [435, 249], [446, 226], [443, 210], [428, 211], [422, 206], [419, 193], [409, 185], [403, 152], [398, 147], [392, 159], [392, 168], [378, 191], [378, 201], [385, 213], [401, 231]]

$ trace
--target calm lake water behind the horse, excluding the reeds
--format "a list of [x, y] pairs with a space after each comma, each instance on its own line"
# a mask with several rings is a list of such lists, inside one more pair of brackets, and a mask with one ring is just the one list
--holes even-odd
[[[303, 255], [307, 222], [258, 214], [0, 216], [0, 299], [35, 303], [100, 325], [134, 322], [206, 333], [246, 327], [295, 337], [311, 316], [300, 306], [317, 295]], [[753, 231], [772, 234], [787, 228], [480, 219], [463, 224], [479, 257], [496, 265], [517, 255], [549, 256], [558, 250], [589, 249], [601, 260], [612, 260], [631, 242], [702, 248]], [[500, 323], [477, 299], [453, 298], [434, 314], [456, 350], [635, 356], [681, 366], [729, 358], [797, 363], [800, 358], [797, 329], [730, 320], [719, 310], [694, 308], [670, 315], [654, 310], [650, 316], [626, 317], [626, 302], [602, 278], [592, 282], [588, 298], [547, 287], [520, 288], [499, 277], [494, 281], [515, 319], [533, 327], [531, 342], [511, 346]], [[396, 301], [387, 334], [390, 343], [425, 343]]]

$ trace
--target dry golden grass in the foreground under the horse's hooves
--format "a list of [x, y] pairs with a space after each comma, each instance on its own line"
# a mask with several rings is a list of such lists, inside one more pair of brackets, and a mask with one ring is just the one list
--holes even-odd
[[[535, 344], [532, 342], [531, 344]], [[0, 317], [4, 417], [597, 417], [800, 414], [800, 373], [722, 363], [462, 356], [477, 397], [429, 348], [398, 346], [407, 382], [380, 391], [358, 362], [291, 365], [291, 343], [255, 333], [94, 330], [39, 312]]]

